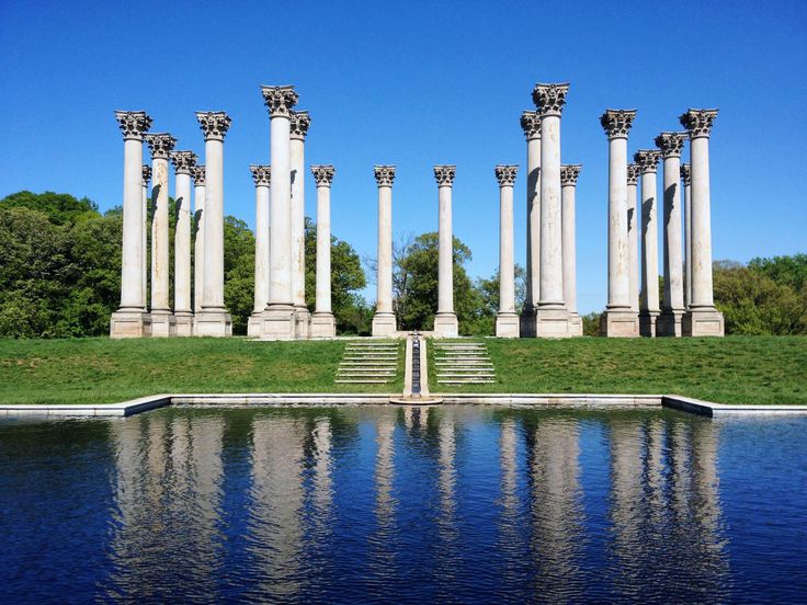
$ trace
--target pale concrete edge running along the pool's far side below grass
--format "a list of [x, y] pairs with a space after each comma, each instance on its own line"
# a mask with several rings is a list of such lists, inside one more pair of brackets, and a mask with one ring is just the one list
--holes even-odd
[[[629, 409], [670, 408], [704, 416], [725, 414], [807, 414], [807, 406], [713, 403], [680, 395], [603, 393], [433, 393], [444, 403], [492, 406]], [[0, 404], [0, 415], [128, 416], [167, 406], [340, 406], [389, 404], [398, 393], [160, 393], [120, 403]]]

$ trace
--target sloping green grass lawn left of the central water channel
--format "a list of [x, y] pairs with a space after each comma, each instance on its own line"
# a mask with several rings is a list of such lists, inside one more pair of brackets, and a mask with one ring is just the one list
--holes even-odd
[[109, 403], [159, 392], [401, 392], [336, 385], [345, 341], [0, 340], [0, 403]]

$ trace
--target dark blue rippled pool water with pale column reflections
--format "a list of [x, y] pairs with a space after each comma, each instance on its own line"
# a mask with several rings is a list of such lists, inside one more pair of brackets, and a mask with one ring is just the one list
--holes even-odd
[[807, 420], [0, 420], [0, 602], [797, 602]]

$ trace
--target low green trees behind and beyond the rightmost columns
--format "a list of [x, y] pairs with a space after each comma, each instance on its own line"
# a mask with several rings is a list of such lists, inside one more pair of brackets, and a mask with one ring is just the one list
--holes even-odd
[[[807, 254], [757, 258], [747, 265], [715, 261], [713, 276], [727, 334], [807, 334]], [[586, 316], [583, 327], [598, 335], [600, 313]]]

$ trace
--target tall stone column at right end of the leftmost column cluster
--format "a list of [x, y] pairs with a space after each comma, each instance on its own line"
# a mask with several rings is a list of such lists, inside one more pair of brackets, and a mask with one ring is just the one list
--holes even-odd
[[231, 336], [232, 317], [224, 305], [224, 137], [232, 119], [224, 112], [196, 112], [205, 136], [205, 260], [197, 336]]

